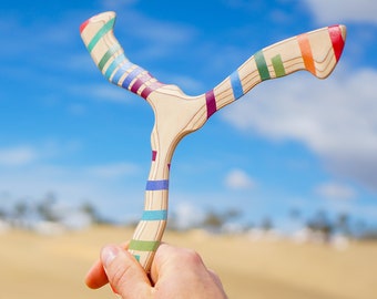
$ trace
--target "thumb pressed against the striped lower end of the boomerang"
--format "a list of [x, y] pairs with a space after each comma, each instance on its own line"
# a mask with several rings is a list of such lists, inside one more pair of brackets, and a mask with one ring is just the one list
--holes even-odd
[[101, 251], [101, 261], [110, 286], [123, 299], [151, 298], [151, 282], [129, 251], [119, 246], [105, 246]]

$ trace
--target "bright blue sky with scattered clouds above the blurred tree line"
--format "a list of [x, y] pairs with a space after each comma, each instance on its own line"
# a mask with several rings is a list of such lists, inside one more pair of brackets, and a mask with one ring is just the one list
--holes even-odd
[[[114, 10], [128, 58], [187, 94], [264, 47], [344, 23], [335, 72], [263, 82], [177, 146], [170, 207], [244, 220], [325, 209], [377, 219], [377, 2], [373, 0], [13, 1], [1, 4], [0, 203], [93, 200], [118, 220], [143, 208], [153, 114], [101, 75], [80, 24]], [[187, 219], [188, 220], [188, 219]]]

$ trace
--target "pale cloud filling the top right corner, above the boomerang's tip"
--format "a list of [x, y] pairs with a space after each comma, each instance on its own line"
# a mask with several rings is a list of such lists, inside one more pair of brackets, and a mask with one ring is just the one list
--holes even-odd
[[305, 0], [317, 22], [339, 21], [377, 23], [377, 1], [375, 0]]

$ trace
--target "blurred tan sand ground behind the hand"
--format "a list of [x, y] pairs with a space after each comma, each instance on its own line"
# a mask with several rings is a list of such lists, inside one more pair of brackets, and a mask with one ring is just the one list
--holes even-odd
[[[93, 227], [58, 236], [0, 234], [0, 299], [114, 298], [108, 287], [90, 290], [83, 277], [108, 243], [132, 229]], [[346, 249], [288, 240], [253, 240], [203, 231], [167, 231], [164, 240], [194, 248], [221, 277], [230, 298], [376, 299], [377, 243]]]

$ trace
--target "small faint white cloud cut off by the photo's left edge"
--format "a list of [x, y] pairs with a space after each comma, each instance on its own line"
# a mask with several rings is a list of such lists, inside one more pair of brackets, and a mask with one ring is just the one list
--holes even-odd
[[3, 166], [30, 164], [34, 162], [37, 157], [37, 152], [30, 146], [0, 148], [0, 165]]

